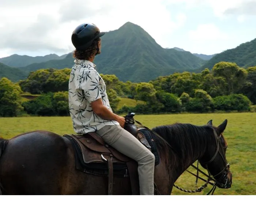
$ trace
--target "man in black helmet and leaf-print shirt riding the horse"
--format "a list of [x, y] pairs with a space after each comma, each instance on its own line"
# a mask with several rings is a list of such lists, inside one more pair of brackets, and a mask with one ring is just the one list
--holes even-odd
[[69, 79], [69, 110], [78, 134], [96, 132], [124, 155], [138, 162], [141, 195], [154, 195], [154, 155], [124, 128], [125, 118], [114, 114], [106, 86], [93, 63], [101, 53], [100, 32], [94, 24], [81, 24], [72, 33], [75, 64]]

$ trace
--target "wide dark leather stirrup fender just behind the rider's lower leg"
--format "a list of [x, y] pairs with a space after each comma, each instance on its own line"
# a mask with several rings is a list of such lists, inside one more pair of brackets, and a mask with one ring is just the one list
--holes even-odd
[[131, 160], [129, 162], [126, 162], [126, 165], [129, 171], [132, 195], [140, 195], [138, 163], [135, 163]]

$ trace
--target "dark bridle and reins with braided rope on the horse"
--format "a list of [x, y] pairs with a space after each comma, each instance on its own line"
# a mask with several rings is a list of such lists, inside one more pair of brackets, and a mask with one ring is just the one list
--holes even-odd
[[[165, 139], [163, 139], [163, 137], [161, 137], [158, 133], [156, 133], [154, 130], [151, 130], [151, 129], [147, 128], [146, 126], [143, 126], [139, 121], [136, 121], [136, 120], [133, 120], [133, 121], [135, 121], [137, 124], [139, 124], [142, 128], [145, 128], [145, 129], [151, 131], [152, 133], [154, 133], [157, 137], [159, 137], [159, 138], [160, 138], [161, 140], [163, 140], [167, 145], [169, 145], [169, 147], [170, 147], [174, 152], [176, 152], [176, 150], [173, 149], [173, 147], [172, 147]], [[201, 179], [202, 181], [204, 181], [204, 182], [206, 182], [206, 183], [205, 183], [204, 185], [202, 185], [201, 187], [197, 188], [196, 190], [185, 190], [185, 189], [182, 189], [181, 187], [178, 187], [177, 185], [173, 184], [174, 187], [176, 187], [177, 189], [179, 189], [179, 190], [181, 190], [181, 191], [184, 191], [184, 192], [186, 192], [186, 193], [196, 193], [196, 192], [201, 192], [205, 187], [207, 187], [208, 184], [210, 184], [210, 185], [212, 185], [213, 187], [212, 187], [212, 189], [207, 193], [207, 195], [209, 195], [210, 193], [211, 193], [211, 195], [213, 195], [213, 193], [214, 193], [214, 191], [215, 191], [215, 189], [216, 189], [216, 187], [217, 187], [217, 184], [218, 184], [219, 186], [221, 186], [221, 187], [226, 187], [226, 185], [227, 185], [227, 180], [228, 180], [228, 179], [226, 179], [226, 183], [225, 183], [225, 184], [222, 184], [222, 183], [218, 182], [216, 179], [214, 179], [214, 177], [216, 177], [217, 175], [221, 174], [223, 171], [227, 170], [227, 168], [229, 167], [229, 163], [227, 163], [227, 160], [226, 160], [226, 158], [225, 158], [224, 150], [223, 150], [222, 145], [220, 146], [220, 140], [219, 140], [219, 139], [221, 138], [221, 136], [218, 137], [218, 136], [217, 136], [217, 133], [216, 133], [216, 131], [215, 131], [214, 129], [213, 129], [213, 132], [214, 132], [214, 136], [215, 136], [215, 140], [216, 140], [216, 144], [217, 144], [216, 152], [215, 152], [214, 156], [212, 156], [211, 160], [209, 160], [209, 161], [206, 162], [206, 163], [201, 162], [201, 164], [206, 165], [206, 169], [207, 169], [207, 171], [208, 171], [208, 175], [198, 168], [199, 160], [197, 160], [197, 167], [194, 166], [193, 164], [191, 164], [191, 166], [197, 170], [196, 175], [193, 174], [192, 172], [186, 170], [187, 172], [189, 172], [190, 174], [192, 174], [192, 175], [194, 175], [194, 176], [196, 177], [196, 184], [197, 184], [198, 179]], [[220, 152], [219, 147], [221, 147], [222, 153]], [[177, 153], [177, 152], [176, 152], [176, 153]], [[221, 155], [222, 159], [223, 159], [224, 162], [226, 163], [226, 166], [225, 166], [225, 167], [223, 168], [223, 170], [220, 171], [218, 174], [216, 174], [216, 175], [214, 175], [214, 176], [211, 177], [211, 173], [210, 173], [210, 171], [208, 170], [208, 164], [211, 163], [211, 162], [215, 159], [215, 157], [217, 156], [218, 153]], [[199, 177], [199, 172], [202, 173], [204, 176], [206, 176], [208, 179], [205, 180], [205, 179]], [[225, 176], [226, 176], [226, 172], [225, 172], [225, 174], [222, 175], [222, 176], [225, 177]], [[210, 181], [213, 181], [214, 183], [212, 183], [212, 182], [210, 182]]]

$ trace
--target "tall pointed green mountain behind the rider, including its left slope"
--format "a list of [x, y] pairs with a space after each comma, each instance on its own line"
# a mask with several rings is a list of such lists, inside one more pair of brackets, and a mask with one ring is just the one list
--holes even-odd
[[[99, 73], [114, 74], [121, 81], [149, 81], [174, 72], [193, 71], [205, 61], [190, 52], [165, 49], [140, 26], [131, 22], [102, 36], [101, 54], [95, 57]], [[22, 67], [27, 73], [41, 68], [71, 68], [72, 53], [62, 60], [50, 60]]]

